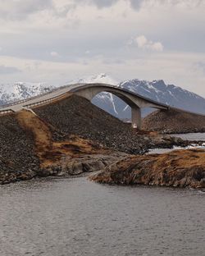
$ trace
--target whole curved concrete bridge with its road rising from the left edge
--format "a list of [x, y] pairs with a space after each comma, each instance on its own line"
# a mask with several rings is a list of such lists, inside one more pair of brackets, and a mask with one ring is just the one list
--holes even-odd
[[139, 130], [141, 129], [142, 124], [141, 109], [143, 107], [154, 107], [164, 110], [170, 109], [170, 106], [166, 104], [158, 103], [157, 101], [150, 98], [145, 98], [139, 94], [134, 94], [130, 90], [122, 89], [119, 86], [95, 83], [66, 85], [47, 94], [42, 94], [37, 97], [27, 98], [16, 103], [8, 104], [0, 109], [0, 115], [9, 112], [18, 112], [25, 108], [31, 109], [32, 107], [44, 103], [50, 103], [56, 99], [64, 97], [67, 93], [73, 93], [91, 101], [94, 96], [102, 92], [114, 94], [130, 106], [132, 113], [132, 127], [138, 128]]

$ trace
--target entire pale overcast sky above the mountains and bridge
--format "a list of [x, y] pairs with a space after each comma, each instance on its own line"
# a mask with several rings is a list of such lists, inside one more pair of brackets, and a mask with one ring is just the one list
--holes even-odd
[[205, 0], [0, 0], [0, 84], [163, 79], [205, 97]]

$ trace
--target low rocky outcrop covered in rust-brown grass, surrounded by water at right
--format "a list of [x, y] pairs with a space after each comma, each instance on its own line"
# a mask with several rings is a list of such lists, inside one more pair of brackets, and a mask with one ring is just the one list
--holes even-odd
[[205, 150], [128, 156], [90, 176], [90, 180], [116, 185], [205, 188]]

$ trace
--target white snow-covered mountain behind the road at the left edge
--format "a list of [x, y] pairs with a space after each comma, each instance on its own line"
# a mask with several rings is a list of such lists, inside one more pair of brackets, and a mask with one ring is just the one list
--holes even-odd
[[44, 83], [22, 83], [0, 85], [0, 105], [44, 94], [54, 89]]

